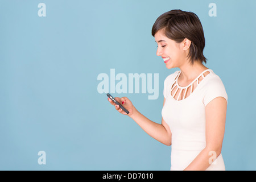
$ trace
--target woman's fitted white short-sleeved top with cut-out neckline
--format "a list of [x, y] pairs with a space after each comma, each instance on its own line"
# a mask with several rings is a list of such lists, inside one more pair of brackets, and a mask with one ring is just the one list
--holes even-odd
[[[216, 97], [228, 101], [225, 87], [212, 69], [205, 70], [185, 87], [177, 82], [180, 73], [176, 71], [164, 80], [166, 102], [162, 117], [172, 133], [171, 170], [185, 169], [204, 149], [205, 106]], [[222, 155], [207, 170], [225, 170]]]

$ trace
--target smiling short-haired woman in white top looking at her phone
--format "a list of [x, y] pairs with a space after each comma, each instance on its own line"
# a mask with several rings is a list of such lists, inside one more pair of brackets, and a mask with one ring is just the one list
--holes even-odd
[[127, 97], [115, 98], [151, 137], [172, 145], [171, 170], [225, 170], [221, 155], [228, 96], [212, 69], [203, 65], [204, 32], [196, 14], [171, 10], [156, 19], [152, 36], [156, 55], [168, 69], [179, 68], [164, 80], [162, 123], [150, 121]]

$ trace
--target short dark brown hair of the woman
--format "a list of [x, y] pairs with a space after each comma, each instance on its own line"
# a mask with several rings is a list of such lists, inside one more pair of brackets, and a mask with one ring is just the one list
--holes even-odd
[[206, 63], [207, 59], [203, 55], [205, 46], [203, 26], [195, 13], [182, 10], [168, 11], [156, 19], [152, 27], [152, 36], [155, 36], [159, 30], [163, 30], [164, 35], [175, 40], [176, 43], [181, 43], [185, 38], [189, 39], [191, 46], [188, 57], [191, 64], [195, 60]]

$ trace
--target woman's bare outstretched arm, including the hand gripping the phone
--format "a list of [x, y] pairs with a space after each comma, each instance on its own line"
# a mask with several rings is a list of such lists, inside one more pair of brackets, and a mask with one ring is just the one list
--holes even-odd
[[[109, 102], [115, 106], [115, 109], [118, 110], [120, 113], [129, 115], [148, 135], [152, 138], [158, 140], [159, 142], [166, 144], [167, 146], [171, 145], [171, 130], [167, 123], [162, 118], [162, 123], [155, 123], [141, 114], [131, 103], [131, 101], [127, 97], [118, 98], [116, 97], [115, 100], [117, 102], [122, 103], [122, 105], [130, 112], [126, 114], [125, 111], [119, 108], [112, 100]], [[164, 98], [164, 103], [166, 99]], [[163, 103], [163, 105], [164, 105]]]

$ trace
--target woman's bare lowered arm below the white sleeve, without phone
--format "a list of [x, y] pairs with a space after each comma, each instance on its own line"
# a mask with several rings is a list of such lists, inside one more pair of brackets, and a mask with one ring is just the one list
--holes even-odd
[[227, 102], [224, 97], [214, 98], [205, 107], [206, 146], [185, 170], [203, 171], [212, 163], [213, 154], [216, 154], [216, 158], [221, 154], [225, 133], [226, 107]]

